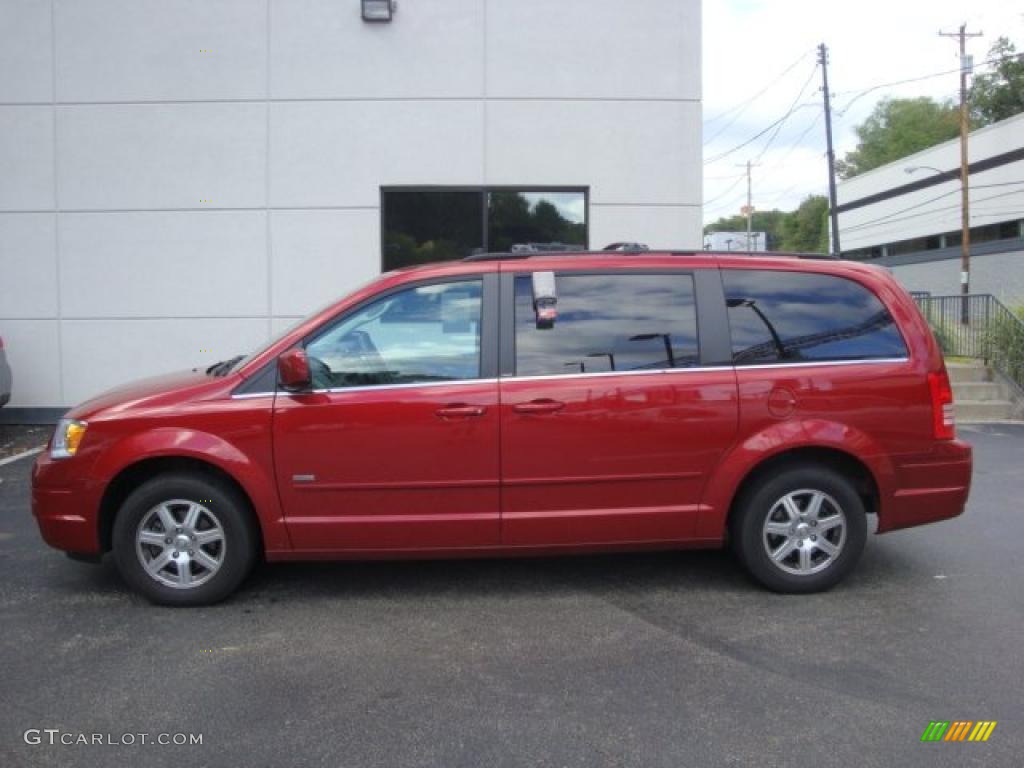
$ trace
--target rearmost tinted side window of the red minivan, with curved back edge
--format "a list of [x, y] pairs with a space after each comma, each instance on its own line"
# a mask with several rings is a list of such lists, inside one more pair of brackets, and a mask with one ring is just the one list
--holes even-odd
[[737, 366], [906, 356], [889, 310], [858, 283], [753, 269], [722, 280]]

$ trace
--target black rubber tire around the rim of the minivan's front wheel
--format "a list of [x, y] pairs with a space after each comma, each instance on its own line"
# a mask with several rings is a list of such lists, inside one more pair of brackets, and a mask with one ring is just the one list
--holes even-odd
[[[184, 528], [182, 536], [187, 538], [188, 532], [195, 532], [197, 537], [208, 534], [215, 538], [219, 532], [220, 539], [210, 544], [177, 547], [177, 534], [166, 531], [168, 537], [164, 541], [175, 543], [164, 549], [168, 550], [168, 557], [174, 560], [168, 560], [164, 569], [158, 571], [158, 575], [152, 575], [143, 566], [142, 559], [148, 557], [151, 565], [156, 565], [155, 561], [163, 554], [162, 545], [140, 545], [136, 537], [140, 535], [143, 521], [148, 535], [153, 535], [155, 529], [164, 530], [160, 515], [155, 510], [179, 500], [204, 510], [197, 513], [199, 522], [195, 530]], [[180, 516], [183, 520], [189, 507], [185, 504], [170, 504], [166, 509], [172, 516]], [[256, 561], [257, 539], [251, 519], [247, 500], [234, 488], [215, 478], [198, 473], [159, 475], [135, 488], [121, 505], [114, 520], [114, 560], [125, 582], [152, 602], [161, 605], [210, 605], [223, 600], [238, 589]], [[203, 525], [207, 526], [206, 529], [202, 529]], [[178, 552], [186, 546], [195, 549]], [[205, 548], [203, 552], [197, 552], [201, 547]], [[182, 571], [179, 570], [178, 562], [184, 562], [185, 554], [209, 555], [211, 559], [207, 562], [216, 561], [218, 565], [215, 568], [204, 567], [198, 559], [194, 564], [187, 564], [188, 579], [195, 579], [196, 586], [174, 587], [160, 581], [181, 579]], [[181, 559], [178, 560], [178, 557]]]

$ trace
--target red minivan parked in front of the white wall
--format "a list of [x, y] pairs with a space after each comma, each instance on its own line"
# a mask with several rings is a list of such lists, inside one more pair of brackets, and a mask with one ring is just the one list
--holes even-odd
[[869, 265], [777, 254], [474, 256], [389, 272], [246, 357], [73, 409], [43, 538], [159, 603], [267, 560], [729, 544], [769, 589], [958, 515], [942, 355]]

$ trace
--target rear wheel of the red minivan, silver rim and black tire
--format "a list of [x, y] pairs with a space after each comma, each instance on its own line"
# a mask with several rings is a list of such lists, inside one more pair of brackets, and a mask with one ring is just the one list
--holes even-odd
[[[816, 500], [819, 516], [812, 514]], [[766, 527], [769, 522], [772, 529]], [[773, 532], [782, 527], [786, 532]], [[822, 592], [843, 581], [860, 559], [867, 539], [864, 504], [843, 474], [821, 466], [794, 466], [761, 478], [742, 494], [730, 520], [730, 538], [739, 561], [768, 589]], [[822, 549], [826, 546], [838, 551], [829, 554]]]

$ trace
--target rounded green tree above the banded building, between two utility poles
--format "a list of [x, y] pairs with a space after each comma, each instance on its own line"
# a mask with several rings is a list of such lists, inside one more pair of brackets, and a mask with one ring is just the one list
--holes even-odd
[[959, 110], [949, 100], [939, 102], [928, 96], [887, 97], [854, 131], [857, 148], [836, 164], [842, 178], [954, 138], [959, 134]]

